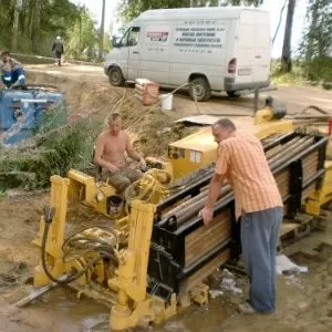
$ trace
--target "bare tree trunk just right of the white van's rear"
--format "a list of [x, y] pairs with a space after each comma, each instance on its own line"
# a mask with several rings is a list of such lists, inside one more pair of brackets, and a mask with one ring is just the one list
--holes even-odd
[[295, 3], [297, 0], [289, 0], [288, 2], [288, 11], [287, 11], [284, 38], [283, 38], [283, 46], [282, 46], [282, 55], [281, 55], [281, 71], [284, 73], [289, 73], [292, 71], [291, 35], [293, 29]]

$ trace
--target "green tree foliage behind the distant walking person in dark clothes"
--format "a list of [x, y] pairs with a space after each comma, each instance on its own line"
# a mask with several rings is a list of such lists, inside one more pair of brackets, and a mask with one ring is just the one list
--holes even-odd
[[0, 49], [52, 56], [56, 35], [68, 56], [84, 58], [84, 50], [96, 48], [100, 32], [87, 9], [70, 0], [0, 0]]

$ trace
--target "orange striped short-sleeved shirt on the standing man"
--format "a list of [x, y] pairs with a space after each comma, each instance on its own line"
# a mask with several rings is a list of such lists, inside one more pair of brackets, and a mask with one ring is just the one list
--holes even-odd
[[249, 134], [236, 134], [218, 147], [216, 174], [232, 186], [236, 216], [282, 207], [282, 198], [268, 165], [260, 141]]

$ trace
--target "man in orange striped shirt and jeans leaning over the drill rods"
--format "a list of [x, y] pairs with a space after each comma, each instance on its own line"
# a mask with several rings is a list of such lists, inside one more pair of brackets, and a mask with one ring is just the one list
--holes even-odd
[[242, 257], [250, 282], [249, 300], [240, 304], [245, 313], [274, 310], [276, 256], [283, 204], [260, 141], [237, 133], [235, 124], [219, 120], [212, 126], [219, 144], [215, 175], [200, 215], [206, 226], [227, 179], [234, 188], [237, 218], [241, 217]]

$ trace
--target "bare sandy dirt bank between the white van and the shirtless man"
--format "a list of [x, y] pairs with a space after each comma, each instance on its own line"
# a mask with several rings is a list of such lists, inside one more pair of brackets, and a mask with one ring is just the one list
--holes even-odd
[[144, 106], [134, 96], [133, 89], [80, 82], [45, 73], [30, 73], [29, 80], [38, 84], [52, 83], [65, 91], [72, 120], [90, 117], [102, 129], [110, 113], [121, 113], [133, 145], [145, 156], [163, 156], [169, 143], [194, 131], [174, 123], [183, 116], [181, 113], [162, 111], [158, 104]]

